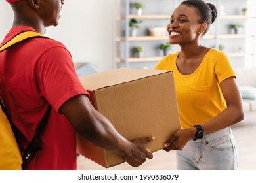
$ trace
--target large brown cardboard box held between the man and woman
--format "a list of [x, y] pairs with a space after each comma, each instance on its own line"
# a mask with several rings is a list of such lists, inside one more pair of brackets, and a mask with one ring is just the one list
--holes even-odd
[[[114, 69], [79, 78], [91, 94], [90, 101], [128, 140], [154, 136], [146, 144], [150, 152], [180, 128], [173, 73], [147, 69]], [[125, 160], [93, 146], [77, 135], [77, 152], [103, 167]]]

